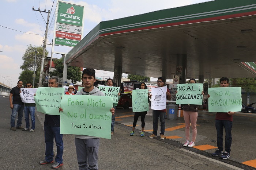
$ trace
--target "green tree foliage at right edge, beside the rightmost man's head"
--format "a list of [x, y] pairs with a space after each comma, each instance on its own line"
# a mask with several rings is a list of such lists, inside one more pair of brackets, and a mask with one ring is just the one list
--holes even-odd
[[256, 91], [256, 81], [254, 78], [230, 78], [229, 81], [232, 87], [241, 87], [247, 93]]

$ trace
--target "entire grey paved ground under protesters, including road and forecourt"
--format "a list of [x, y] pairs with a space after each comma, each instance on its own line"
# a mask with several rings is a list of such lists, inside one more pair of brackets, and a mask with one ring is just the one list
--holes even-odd
[[[39, 165], [39, 161], [43, 160], [45, 157], [44, 130], [42, 125], [44, 122], [44, 114], [36, 112], [35, 132], [29, 133], [21, 130], [11, 131], [11, 109], [8, 97], [0, 96], [0, 107], [0, 169], [51, 169], [52, 164]], [[239, 116], [240, 114], [242, 116]], [[182, 117], [176, 120], [166, 120], [167, 131], [165, 136], [171, 137], [170, 139], [160, 140], [159, 137], [157, 139], [150, 139], [148, 136], [151, 134], [150, 131], [153, 123], [150, 111], [146, 116], [145, 129], [148, 133], [146, 136], [140, 137], [140, 119], [138, 120], [138, 127], [136, 127], [135, 130], [136, 134], [134, 136], [130, 136], [129, 132], [131, 131], [131, 127], [129, 127], [129, 125], [131, 125], [133, 121], [132, 109], [129, 108], [128, 110], [125, 110], [123, 108], [117, 108], [117, 118], [112, 139], [100, 139], [98, 155], [99, 169], [249, 169], [249, 166], [241, 168], [241, 162], [256, 159], [254, 153], [255, 134], [253, 131], [255, 129], [255, 115], [249, 115], [247, 113], [239, 113], [239, 115], [237, 114], [234, 116], [234, 125], [232, 130], [233, 144], [231, 146], [232, 154], [230, 160], [223, 161], [223, 159], [221, 160], [210, 156], [210, 153], [212, 151], [214, 152], [215, 148], [199, 152], [200, 150], [196, 148], [180, 146], [183, 144], [185, 136], [185, 128], [182, 128], [182, 123], [184, 123]], [[196, 146], [204, 144], [216, 146], [216, 143], [210, 142], [210, 140], [216, 138], [214, 119], [212, 119], [212, 117], [214, 117], [214, 113], [199, 113], [197, 121], [198, 135], [196, 139]], [[181, 126], [177, 127], [179, 125]], [[22, 126], [25, 127], [24, 117], [22, 120]], [[180, 138], [173, 139], [173, 136], [178, 136]], [[59, 169], [76, 170], [78, 169], [78, 165], [74, 135], [63, 135], [63, 141], [64, 165]], [[250, 142], [252, 143], [250, 144]], [[241, 143], [243, 144], [241, 145]], [[246, 157], [246, 153], [250, 153], [250, 155], [247, 155]]]

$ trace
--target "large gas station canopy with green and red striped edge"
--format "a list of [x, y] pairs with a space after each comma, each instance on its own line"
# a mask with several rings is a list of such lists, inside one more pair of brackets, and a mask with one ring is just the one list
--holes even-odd
[[255, 17], [255, 0], [216, 0], [104, 21], [65, 62], [171, 79], [185, 54], [187, 78], [256, 77]]

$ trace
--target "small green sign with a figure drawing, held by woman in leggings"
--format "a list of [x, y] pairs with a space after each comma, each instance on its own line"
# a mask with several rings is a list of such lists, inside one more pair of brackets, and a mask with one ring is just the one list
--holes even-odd
[[132, 111], [148, 111], [148, 89], [132, 90]]

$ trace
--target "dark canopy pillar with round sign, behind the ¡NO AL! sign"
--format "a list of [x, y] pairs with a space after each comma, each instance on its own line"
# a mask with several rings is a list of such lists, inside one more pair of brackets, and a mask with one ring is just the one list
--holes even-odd
[[187, 80], [187, 54], [177, 54], [176, 75], [180, 75], [180, 84], [185, 84]]

